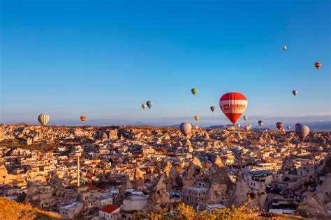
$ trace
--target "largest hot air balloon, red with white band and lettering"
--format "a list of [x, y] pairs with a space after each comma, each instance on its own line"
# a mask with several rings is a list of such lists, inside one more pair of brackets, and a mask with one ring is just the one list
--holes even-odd
[[247, 99], [242, 93], [226, 93], [219, 100], [219, 107], [234, 125], [246, 110]]

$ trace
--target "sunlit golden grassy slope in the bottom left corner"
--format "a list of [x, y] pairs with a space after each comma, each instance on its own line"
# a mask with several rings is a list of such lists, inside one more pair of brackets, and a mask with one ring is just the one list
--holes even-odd
[[4, 197], [0, 197], [0, 207], [0, 219], [2, 220], [60, 219], [57, 214], [44, 212], [31, 205], [17, 203]]

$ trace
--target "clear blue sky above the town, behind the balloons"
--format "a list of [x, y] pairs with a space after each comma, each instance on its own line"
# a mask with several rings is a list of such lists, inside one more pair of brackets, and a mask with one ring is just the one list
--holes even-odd
[[[231, 91], [246, 95], [250, 123], [330, 120], [328, 0], [1, 0], [0, 8], [0, 123], [48, 113], [53, 125], [79, 125], [82, 114], [93, 125], [195, 115], [198, 125], [220, 125], [228, 120], [219, 97]], [[144, 111], [147, 100], [154, 107]]]

